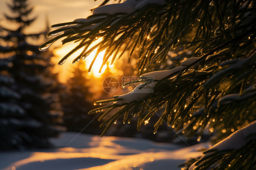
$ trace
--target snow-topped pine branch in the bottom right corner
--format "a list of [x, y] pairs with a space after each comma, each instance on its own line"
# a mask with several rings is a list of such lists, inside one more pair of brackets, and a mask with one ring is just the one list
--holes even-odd
[[[194, 164], [192, 164], [189, 167], [189, 170], [201, 170], [202, 168], [208, 168], [211, 166], [213, 168], [214, 166], [235, 166], [230, 167], [232, 168], [238, 168], [236, 167], [236, 162], [239, 161], [239, 159], [243, 159], [242, 155], [245, 156], [247, 153], [248, 156], [251, 155], [250, 151], [247, 151], [247, 153], [243, 153], [242, 148], [245, 147], [250, 150], [250, 147], [253, 147], [253, 144], [249, 144], [250, 142], [255, 144], [256, 140], [256, 120], [251, 122], [249, 125], [246, 125], [240, 130], [237, 130], [236, 132], [232, 133], [230, 136], [225, 138], [224, 140], [221, 140], [214, 146], [212, 146], [210, 149], [204, 151], [204, 156], [200, 158], [200, 160], [196, 161]], [[240, 152], [241, 150], [241, 152]], [[253, 149], [252, 149], [253, 152]], [[229, 153], [227, 156], [224, 156], [226, 153]], [[255, 155], [255, 154], [254, 154]], [[255, 158], [252, 157], [252, 160]], [[223, 162], [217, 163], [217, 161], [223, 160]], [[233, 161], [232, 160], [235, 160]], [[246, 161], [249, 161], [250, 159], [246, 159]], [[210, 163], [209, 163], [210, 162]], [[216, 163], [215, 165], [212, 165], [213, 163]], [[230, 165], [230, 163], [232, 164]], [[220, 164], [220, 165], [219, 165]], [[226, 165], [227, 164], [227, 165]]]

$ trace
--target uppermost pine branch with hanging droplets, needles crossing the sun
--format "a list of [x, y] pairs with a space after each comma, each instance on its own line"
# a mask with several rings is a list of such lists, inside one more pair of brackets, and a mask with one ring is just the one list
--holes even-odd
[[[240, 1], [237, 2], [237, 4], [238, 3], [240, 3]], [[106, 50], [106, 56], [114, 55], [118, 49], [118, 52], [123, 53], [127, 48], [122, 49], [122, 45], [130, 42], [130, 40], [134, 40], [131, 47], [134, 49], [134, 47], [142, 46], [143, 48], [141, 48], [139, 56], [148, 56], [147, 59], [143, 57], [143, 61], [140, 63], [139, 69], [143, 70], [146, 68], [146, 65], [148, 66], [155, 60], [163, 59], [164, 55], [172, 46], [175, 48], [175, 46], [179, 44], [178, 37], [187, 35], [189, 33], [189, 29], [192, 27], [195, 27], [198, 31], [194, 38], [192, 37], [194, 40], [190, 44], [195, 45], [195, 42], [198, 39], [204, 37], [204, 41], [198, 46], [200, 46], [201, 50], [207, 49], [206, 44], [213, 40], [213, 31], [215, 31], [216, 25], [232, 25], [232, 23], [235, 22], [234, 20], [230, 19], [222, 20], [220, 17], [218, 17], [220, 14], [219, 9], [222, 9], [223, 5], [225, 5], [226, 10], [222, 11], [221, 15], [234, 18], [235, 20], [234, 15], [239, 15], [237, 12], [239, 6], [237, 6], [235, 9], [228, 8], [229, 6], [234, 5], [234, 3], [230, 1], [224, 1], [222, 4], [216, 2], [215, 5], [214, 2], [209, 4], [207, 1], [189, 1], [188, 4], [188, 2], [174, 3], [169, 0], [164, 6], [148, 5], [143, 9], [136, 10], [130, 14], [93, 14], [89, 16], [87, 20], [80, 19], [70, 23], [54, 25], [62, 26], [67, 24], [70, 26], [64, 26], [61, 29], [54, 30], [51, 32], [51, 35], [62, 33], [62, 36], [59, 36], [55, 40], [58, 40], [61, 37], [67, 37], [66, 39], [62, 40], [63, 43], [74, 40], [85, 42], [81, 44], [81, 48], [84, 47], [85, 44], [88, 44], [85, 46], [85, 51], [89, 50], [90, 45], [93, 42], [92, 40], [96, 40], [97, 37], [102, 37], [102, 40], [99, 42], [102, 44], [102, 46], [101, 48], [97, 49], [97, 53]], [[201, 8], [203, 6], [204, 8]], [[236, 13], [234, 11], [236, 11]], [[196, 15], [190, 15], [191, 13]], [[152, 20], [151, 16], [156, 17], [154, 20]], [[177, 16], [179, 16], [179, 20], [174, 19]], [[212, 18], [217, 18], [215, 24], [211, 23], [211, 19], [209, 18], [210, 16]], [[205, 25], [203, 24], [204, 22], [209, 24]], [[130, 25], [133, 25], [133, 27]], [[202, 25], [204, 25], [204, 27], [202, 27]], [[155, 31], [151, 32], [150, 29], [144, 29], [151, 27], [154, 27]], [[227, 32], [230, 34], [234, 31], [234, 29], [235, 28], [233, 26], [225, 28], [225, 32], [222, 29], [222, 32], [220, 32], [220, 38], [222, 35], [227, 34]], [[64, 33], [63, 30], [65, 30]], [[126, 33], [125, 36], [123, 35], [124, 32]], [[203, 32], [205, 33], [202, 34]], [[182, 34], [182, 36], [180, 34]], [[148, 35], [150, 35], [149, 40], [143, 40], [143, 37], [147, 37]], [[113, 36], [116, 37], [115, 40], [112, 39]], [[41, 45], [41, 48], [50, 45], [51, 42], [52, 40], [44, 45]], [[108, 44], [112, 44], [112, 46], [110, 47]], [[157, 48], [159, 48], [159, 51], [161, 52], [155, 55], [155, 49]], [[131, 54], [133, 53], [132, 51], [133, 50], [131, 50]], [[86, 54], [85, 57], [87, 55], [88, 54]], [[82, 56], [83, 55], [81, 55], [79, 59], [81, 59]], [[67, 55], [65, 59], [67, 57], [69, 57], [69, 55]], [[109, 57], [106, 58], [102, 65], [106, 64], [108, 58]], [[152, 60], [153, 58], [154, 60]], [[63, 60], [64, 59], [62, 59], [62, 61]], [[78, 60], [78, 58], [76, 58], [76, 60]]]

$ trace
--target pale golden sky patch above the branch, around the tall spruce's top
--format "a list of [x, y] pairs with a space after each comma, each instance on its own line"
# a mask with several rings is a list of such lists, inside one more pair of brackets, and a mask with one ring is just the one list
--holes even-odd
[[[7, 6], [10, 2], [11, 0], [0, 0], [1, 23], [5, 23], [4, 13], [10, 14]], [[28, 32], [44, 29], [46, 16], [49, 18], [50, 25], [86, 18], [90, 15], [89, 10], [101, 3], [93, 0], [29, 0], [28, 2], [34, 6], [31, 16], [37, 16], [37, 20], [27, 28]]]

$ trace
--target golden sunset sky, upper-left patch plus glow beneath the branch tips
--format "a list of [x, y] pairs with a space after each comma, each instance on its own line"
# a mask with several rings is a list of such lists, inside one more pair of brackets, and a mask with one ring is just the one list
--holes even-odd
[[[15, 25], [6, 21], [4, 17], [5, 13], [12, 15], [7, 6], [7, 3], [10, 2], [11, 0], [0, 0], [0, 24], [7, 28], [14, 28]], [[25, 30], [26, 33], [35, 33], [44, 30], [46, 28], [46, 18], [48, 18], [50, 25], [69, 22], [77, 18], [86, 18], [90, 15], [89, 10], [101, 3], [101, 1], [93, 2], [93, 0], [29, 0], [28, 2], [34, 7], [30, 17], [36, 16], [37, 19], [31, 26], [27, 27]], [[40, 43], [42, 42], [39, 42], [38, 45], [40, 45]], [[74, 46], [74, 43], [61, 46], [61, 41], [54, 43], [50, 48], [56, 55], [56, 58], [53, 58], [54, 63], [56, 64], [61, 57], [72, 50]], [[58, 49], [55, 49], [57, 47]], [[71, 72], [74, 68], [72, 60], [73, 57], [70, 57], [64, 65], [58, 66], [56, 64], [55, 70], [59, 72], [61, 82], [65, 82], [68, 77], [72, 76]], [[92, 59], [87, 59], [87, 67], [89, 66], [90, 60]], [[99, 62], [101, 61], [97, 62], [98, 65], [100, 65]], [[95, 77], [99, 77], [100, 75], [97, 75], [96, 70], [96, 67], [94, 67], [92, 74], [94, 74]]]

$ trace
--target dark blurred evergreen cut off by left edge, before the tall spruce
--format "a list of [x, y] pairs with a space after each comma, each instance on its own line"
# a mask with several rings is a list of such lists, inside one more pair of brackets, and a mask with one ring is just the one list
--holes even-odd
[[[7, 49], [6, 49], [7, 50]], [[1, 48], [4, 51], [4, 48]], [[21, 96], [12, 90], [15, 80], [8, 70], [12, 63], [8, 59], [0, 59], [0, 149], [20, 147], [20, 140], [27, 138], [22, 131], [18, 131], [17, 123], [27, 123], [29, 120], [18, 121], [25, 115], [25, 110], [19, 105]], [[15, 126], [16, 125], [16, 126]], [[14, 133], [15, 132], [15, 133]]]

